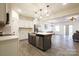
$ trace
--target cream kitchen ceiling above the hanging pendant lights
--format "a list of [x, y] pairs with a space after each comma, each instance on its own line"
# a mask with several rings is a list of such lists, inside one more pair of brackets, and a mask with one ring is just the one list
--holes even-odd
[[47, 8], [46, 7], [47, 5], [49, 5], [48, 11], [51, 15], [65, 10], [70, 10], [70, 9], [79, 7], [78, 3], [68, 3], [66, 5], [63, 5], [62, 3], [13, 3], [11, 4], [13, 9], [18, 11], [19, 14], [24, 16], [29, 16], [29, 17], [34, 17], [35, 12], [39, 12], [40, 9], [42, 9], [42, 11], [44, 12]]

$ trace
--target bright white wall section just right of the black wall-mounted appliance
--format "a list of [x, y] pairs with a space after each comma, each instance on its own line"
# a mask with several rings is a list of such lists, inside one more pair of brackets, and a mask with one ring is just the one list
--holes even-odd
[[11, 24], [11, 32], [12, 34], [15, 34], [15, 35], [19, 35], [18, 33], [18, 28], [19, 28], [19, 14], [12, 10], [11, 11], [11, 16], [10, 16], [10, 24]]

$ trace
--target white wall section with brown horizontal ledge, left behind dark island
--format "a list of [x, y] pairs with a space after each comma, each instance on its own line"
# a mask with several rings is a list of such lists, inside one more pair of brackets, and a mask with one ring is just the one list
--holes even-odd
[[22, 15], [19, 18], [19, 38], [20, 40], [28, 39], [28, 33], [33, 31], [33, 21]]

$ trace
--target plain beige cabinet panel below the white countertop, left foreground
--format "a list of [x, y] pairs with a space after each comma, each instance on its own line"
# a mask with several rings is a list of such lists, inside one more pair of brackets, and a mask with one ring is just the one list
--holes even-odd
[[0, 41], [0, 56], [17, 56], [18, 39]]

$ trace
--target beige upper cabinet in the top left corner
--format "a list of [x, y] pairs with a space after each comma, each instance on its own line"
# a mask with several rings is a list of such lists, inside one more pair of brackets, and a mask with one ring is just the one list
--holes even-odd
[[0, 24], [6, 23], [6, 4], [0, 3]]

